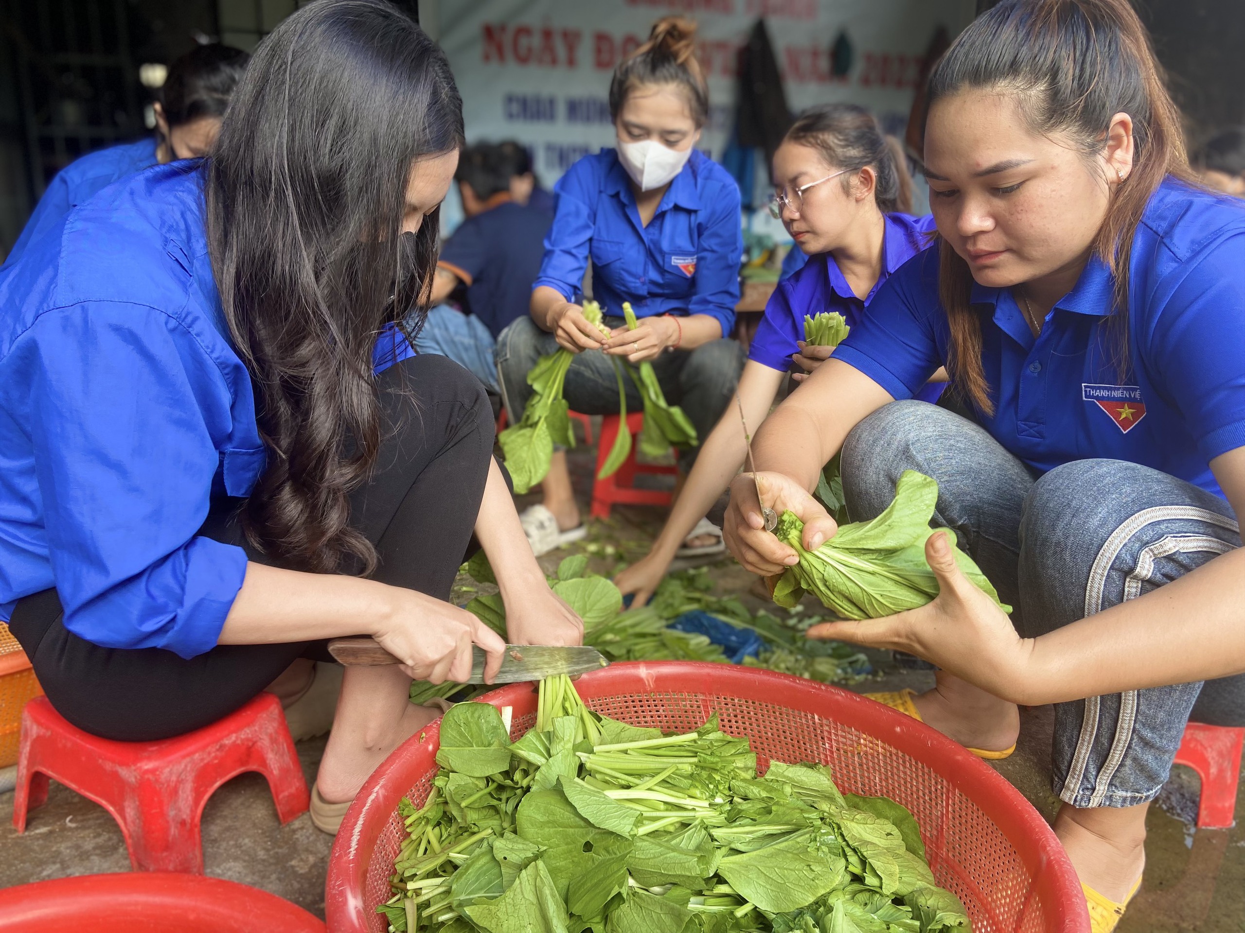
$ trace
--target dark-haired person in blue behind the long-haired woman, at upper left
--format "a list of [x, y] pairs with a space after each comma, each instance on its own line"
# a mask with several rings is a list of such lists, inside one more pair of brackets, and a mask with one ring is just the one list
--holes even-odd
[[39, 199], [5, 265], [21, 259], [35, 238], [113, 182], [152, 165], [207, 154], [249, 57], [240, 49], [213, 44], [197, 46], [174, 61], [161, 100], [152, 104], [156, 134], [88, 153], [62, 168]]

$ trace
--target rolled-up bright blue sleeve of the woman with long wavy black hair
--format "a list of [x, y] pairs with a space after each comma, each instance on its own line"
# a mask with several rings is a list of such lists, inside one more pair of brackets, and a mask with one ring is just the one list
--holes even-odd
[[197, 536], [230, 418], [215, 362], [169, 315], [113, 302], [44, 313], [20, 343], [66, 628], [202, 654], [247, 572], [240, 547]]

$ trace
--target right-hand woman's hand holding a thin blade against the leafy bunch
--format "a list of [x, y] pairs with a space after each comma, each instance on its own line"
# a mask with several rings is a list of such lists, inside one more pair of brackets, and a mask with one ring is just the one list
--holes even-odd
[[[804, 522], [806, 551], [815, 551], [834, 537], [839, 526], [825, 506], [791, 476], [782, 473], [757, 473], [766, 505], [782, 515], [793, 511]], [[731, 483], [731, 504], [722, 522], [722, 536], [735, 559], [762, 576], [773, 576], [799, 562], [796, 551], [779, 541], [772, 531], [766, 531], [761, 506], [757, 503], [757, 484], [751, 473], [741, 473]]]

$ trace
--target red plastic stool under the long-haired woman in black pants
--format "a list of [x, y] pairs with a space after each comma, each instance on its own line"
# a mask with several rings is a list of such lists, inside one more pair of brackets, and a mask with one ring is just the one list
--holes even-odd
[[21, 714], [12, 825], [25, 832], [26, 811], [47, 800], [51, 778], [112, 814], [134, 870], [200, 873], [203, 805], [243, 771], [268, 778], [283, 824], [306, 811], [303, 766], [281, 702], [270, 693], [212, 725], [161, 741], [101, 739], [39, 697]]

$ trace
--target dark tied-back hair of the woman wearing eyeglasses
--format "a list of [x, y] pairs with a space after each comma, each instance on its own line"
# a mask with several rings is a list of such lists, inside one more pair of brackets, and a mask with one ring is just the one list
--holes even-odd
[[825, 164], [845, 169], [844, 189], [852, 174], [872, 168], [878, 183], [874, 199], [883, 214], [913, 209], [913, 178], [908, 157], [894, 137], [881, 132], [881, 126], [864, 107], [854, 103], [823, 103], [803, 111], [783, 142], [808, 146], [822, 153]]

